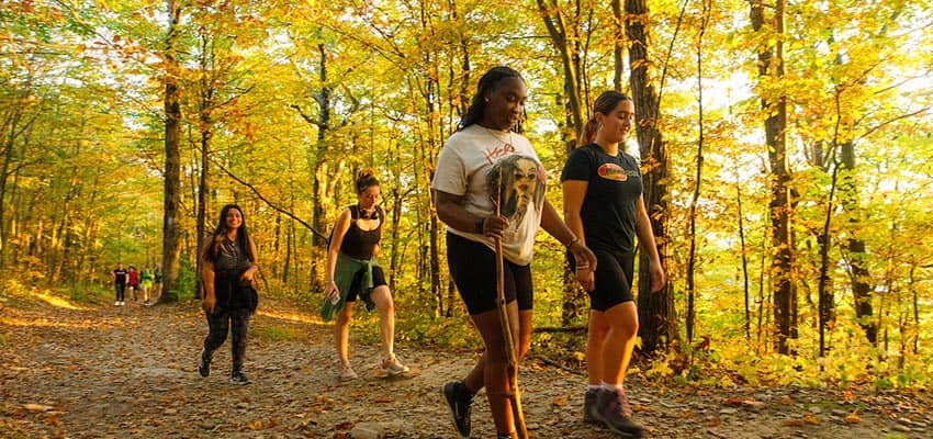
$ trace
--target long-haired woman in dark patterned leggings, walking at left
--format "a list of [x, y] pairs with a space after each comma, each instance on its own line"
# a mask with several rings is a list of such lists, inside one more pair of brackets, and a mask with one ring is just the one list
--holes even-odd
[[256, 244], [246, 229], [243, 210], [227, 204], [214, 232], [201, 244], [201, 284], [204, 286], [202, 307], [206, 313], [209, 333], [198, 364], [201, 376], [211, 373], [214, 351], [224, 344], [229, 329], [233, 368], [231, 383], [249, 384], [243, 373], [246, 360], [246, 339], [249, 317], [256, 311], [258, 295], [252, 288], [259, 271]]

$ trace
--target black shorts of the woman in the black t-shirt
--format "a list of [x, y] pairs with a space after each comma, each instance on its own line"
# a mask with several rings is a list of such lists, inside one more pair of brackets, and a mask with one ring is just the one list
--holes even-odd
[[595, 289], [589, 291], [589, 308], [599, 312], [632, 302], [634, 255], [593, 250], [596, 255]]

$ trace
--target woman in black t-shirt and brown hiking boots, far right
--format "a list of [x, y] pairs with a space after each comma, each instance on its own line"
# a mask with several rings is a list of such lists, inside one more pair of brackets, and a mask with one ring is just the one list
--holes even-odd
[[638, 161], [623, 150], [634, 104], [622, 93], [607, 91], [596, 99], [593, 114], [583, 136], [588, 144], [570, 154], [561, 175], [566, 224], [598, 261], [595, 267], [578, 259], [574, 263], [576, 279], [589, 294], [583, 419], [626, 437], [642, 437], [623, 387], [638, 335], [631, 293], [636, 235], [651, 260], [651, 291], [664, 286], [664, 270], [641, 196]]

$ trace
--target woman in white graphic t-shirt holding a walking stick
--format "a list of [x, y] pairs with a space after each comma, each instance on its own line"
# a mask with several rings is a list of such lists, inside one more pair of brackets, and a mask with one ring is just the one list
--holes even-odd
[[[470, 436], [473, 395], [484, 386], [498, 437], [515, 435], [507, 398], [513, 391], [508, 359], [495, 301], [495, 239], [502, 240], [506, 312], [509, 326], [517, 328], [513, 342], [519, 358], [531, 340], [529, 264], [538, 226], [567, 246], [576, 260], [596, 263], [593, 252], [544, 200], [543, 167], [521, 135], [526, 95], [525, 81], [512, 68], [495, 67], [483, 75], [459, 130], [440, 151], [431, 181], [438, 217], [447, 224], [450, 273], [486, 349], [463, 381], [442, 387], [463, 437]], [[496, 200], [502, 204], [498, 216]]]

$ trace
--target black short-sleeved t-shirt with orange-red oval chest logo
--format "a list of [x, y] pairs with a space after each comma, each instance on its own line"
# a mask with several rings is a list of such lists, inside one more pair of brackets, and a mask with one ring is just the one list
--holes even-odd
[[561, 181], [586, 181], [580, 216], [586, 246], [594, 250], [634, 252], [634, 222], [641, 196], [641, 170], [634, 157], [619, 150], [606, 154], [589, 144], [571, 151]]

